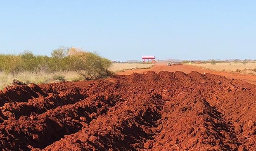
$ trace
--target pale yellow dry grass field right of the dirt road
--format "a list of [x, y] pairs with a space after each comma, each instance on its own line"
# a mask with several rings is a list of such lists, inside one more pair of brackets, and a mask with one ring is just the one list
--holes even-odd
[[200, 63], [192, 64], [197, 67], [202, 67], [209, 70], [220, 71], [220, 72], [238, 72], [242, 74], [255, 74], [256, 75], [256, 63], [216, 63], [212, 65], [211, 63]]

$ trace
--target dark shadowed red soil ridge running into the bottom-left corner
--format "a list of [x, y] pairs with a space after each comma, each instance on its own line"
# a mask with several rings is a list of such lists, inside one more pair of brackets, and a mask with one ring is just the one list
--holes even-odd
[[19, 120], [4, 122], [0, 127], [0, 135], [7, 134], [7, 136], [1, 139], [2, 147], [12, 144], [4, 149], [44, 148], [64, 135], [78, 132], [83, 125], [88, 125], [92, 119], [104, 114], [109, 107], [121, 100], [118, 95], [111, 94], [106, 94], [104, 97], [92, 96], [74, 105], [64, 105], [40, 115], [31, 114], [30, 116], [21, 116]]

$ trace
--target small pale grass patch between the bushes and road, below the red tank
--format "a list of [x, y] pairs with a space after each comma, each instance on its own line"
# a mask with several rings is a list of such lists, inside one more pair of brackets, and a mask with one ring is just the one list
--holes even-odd
[[123, 70], [131, 69], [145, 69], [152, 67], [153, 64], [141, 64], [141, 63], [113, 63], [109, 68], [113, 72], [120, 72]]

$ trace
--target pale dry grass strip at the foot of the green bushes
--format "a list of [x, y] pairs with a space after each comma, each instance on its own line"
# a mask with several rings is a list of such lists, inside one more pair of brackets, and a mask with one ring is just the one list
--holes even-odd
[[21, 72], [19, 74], [5, 74], [4, 72], [0, 72], [0, 89], [3, 89], [7, 86], [12, 85], [13, 79], [17, 79], [25, 83], [47, 84], [53, 80], [54, 76], [59, 76], [59, 75], [64, 76], [64, 78], [67, 81], [80, 81], [84, 79], [84, 77], [81, 74], [73, 71], [54, 72], [54, 73]]

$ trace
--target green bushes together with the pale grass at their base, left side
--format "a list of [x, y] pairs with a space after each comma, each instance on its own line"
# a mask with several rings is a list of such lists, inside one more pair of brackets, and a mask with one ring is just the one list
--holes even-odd
[[0, 54], [0, 88], [9, 85], [13, 79], [38, 84], [56, 79], [104, 78], [112, 74], [110, 66], [111, 60], [97, 52], [75, 47], [60, 47], [53, 50], [51, 56], [35, 55], [31, 51]]

